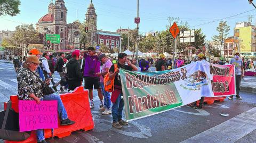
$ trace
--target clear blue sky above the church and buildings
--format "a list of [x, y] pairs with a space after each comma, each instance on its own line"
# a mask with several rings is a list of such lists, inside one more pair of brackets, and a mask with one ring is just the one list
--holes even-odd
[[[68, 9], [67, 22], [83, 21], [90, 0], [65, 0]], [[119, 27], [133, 29], [136, 27], [134, 17], [137, 16], [137, 0], [93, 0], [96, 9], [97, 29], [116, 31]], [[0, 16], [0, 30], [15, 30], [22, 23], [36, 22], [48, 12], [50, 0], [21, 0], [20, 14], [17, 16]], [[139, 31], [145, 34], [149, 31], [162, 31], [168, 24], [167, 17], [179, 17], [187, 21], [190, 28], [202, 28], [206, 39], [217, 35], [217, 22], [203, 24], [253, 10], [247, 0], [140, 0], [139, 16], [141, 23]], [[239, 14], [226, 19], [230, 26], [230, 36], [236, 22], [248, 21], [248, 15], [256, 16], [256, 10]], [[253, 19], [253, 23], [255, 23]], [[203, 24], [197, 26], [198, 24]], [[195, 26], [195, 27], [194, 27]]]

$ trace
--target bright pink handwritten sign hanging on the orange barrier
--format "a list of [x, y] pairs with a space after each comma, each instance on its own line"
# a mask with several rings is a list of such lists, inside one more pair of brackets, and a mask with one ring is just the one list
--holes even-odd
[[19, 100], [19, 122], [20, 132], [58, 128], [57, 101]]

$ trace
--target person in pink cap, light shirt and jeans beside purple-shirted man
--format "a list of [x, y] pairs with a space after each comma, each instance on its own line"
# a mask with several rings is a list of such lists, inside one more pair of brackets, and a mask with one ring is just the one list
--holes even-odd
[[102, 95], [104, 96], [104, 106], [103, 108], [100, 108], [99, 111], [103, 111], [102, 115], [111, 114], [110, 106], [111, 106], [111, 100], [110, 100], [110, 93], [104, 89], [104, 77], [109, 72], [109, 68], [112, 65], [112, 62], [107, 58], [105, 54], [99, 55], [99, 60], [103, 63], [102, 69], [100, 72], [96, 73], [100, 77], [100, 86], [102, 90]]

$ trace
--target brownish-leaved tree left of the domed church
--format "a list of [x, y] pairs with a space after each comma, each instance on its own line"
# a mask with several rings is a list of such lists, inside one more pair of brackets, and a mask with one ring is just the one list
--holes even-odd
[[22, 24], [16, 27], [16, 30], [12, 35], [12, 40], [18, 47], [25, 48], [25, 54], [27, 55], [29, 52], [29, 44], [37, 43], [40, 41], [40, 38], [39, 33], [35, 30], [33, 24]]

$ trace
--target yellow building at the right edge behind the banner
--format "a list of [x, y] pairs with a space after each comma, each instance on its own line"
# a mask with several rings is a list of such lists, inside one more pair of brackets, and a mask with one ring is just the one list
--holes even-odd
[[256, 28], [250, 22], [237, 22], [234, 28], [235, 51], [256, 52]]

